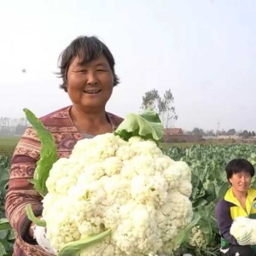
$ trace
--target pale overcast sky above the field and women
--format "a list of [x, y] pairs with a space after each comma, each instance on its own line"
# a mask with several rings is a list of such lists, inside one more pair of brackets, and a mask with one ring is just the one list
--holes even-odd
[[146, 91], [171, 89], [177, 127], [255, 131], [255, 28], [255, 0], [0, 0], [0, 116], [71, 104], [55, 78], [58, 56], [95, 35], [122, 82], [108, 111], [125, 117]]

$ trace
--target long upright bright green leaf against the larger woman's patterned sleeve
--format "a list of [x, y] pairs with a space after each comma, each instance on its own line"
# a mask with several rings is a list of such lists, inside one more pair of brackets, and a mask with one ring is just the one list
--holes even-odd
[[26, 113], [26, 119], [37, 132], [38, 138], [42, 143], [40, 160], [38, 160], [34, 177], [30, 181], [34, 184], [34, 188], [38, 190], [38, 193], [44, 196], [48, 192], [45, 182], [49, 177], [49, 171], [58, 158], [57, 148], [54, 138], [51, 133], [46, 130], [43, 123], [30, 110], [25, 108], [23, 111]]

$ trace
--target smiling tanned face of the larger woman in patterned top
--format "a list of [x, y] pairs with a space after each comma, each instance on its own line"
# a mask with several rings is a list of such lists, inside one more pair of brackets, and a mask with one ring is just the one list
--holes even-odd
[[87, 64], [76, 57], [67, 71], [67, 93], [73, 105], [104, 108], [113, 91], [113, 73], [104, 55]]

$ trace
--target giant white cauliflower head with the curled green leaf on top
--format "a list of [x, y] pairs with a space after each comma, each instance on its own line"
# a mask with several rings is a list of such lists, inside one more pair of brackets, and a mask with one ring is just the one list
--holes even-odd
[[177, 247], [193, 218], [191, 172], [162, 153], [162, 135], [156, 113], [130, 114], [114, 133], [80, 140], [53, 163], [43, 222], [57, 255], [143, 256]]

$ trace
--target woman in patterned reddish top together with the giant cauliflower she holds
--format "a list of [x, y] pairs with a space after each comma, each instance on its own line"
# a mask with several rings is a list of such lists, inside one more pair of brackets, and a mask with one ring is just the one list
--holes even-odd
[[40, 120], [25, 110], [32, 127], [15, 149], [6, 203], [14, 256], [155, 256], [182, 242], [193, 218], [189, 166], [158, 147], [154, 111], [106, 113], [113, 67], [105, 44], [77, 38], [61, 55], [73, 106]]

